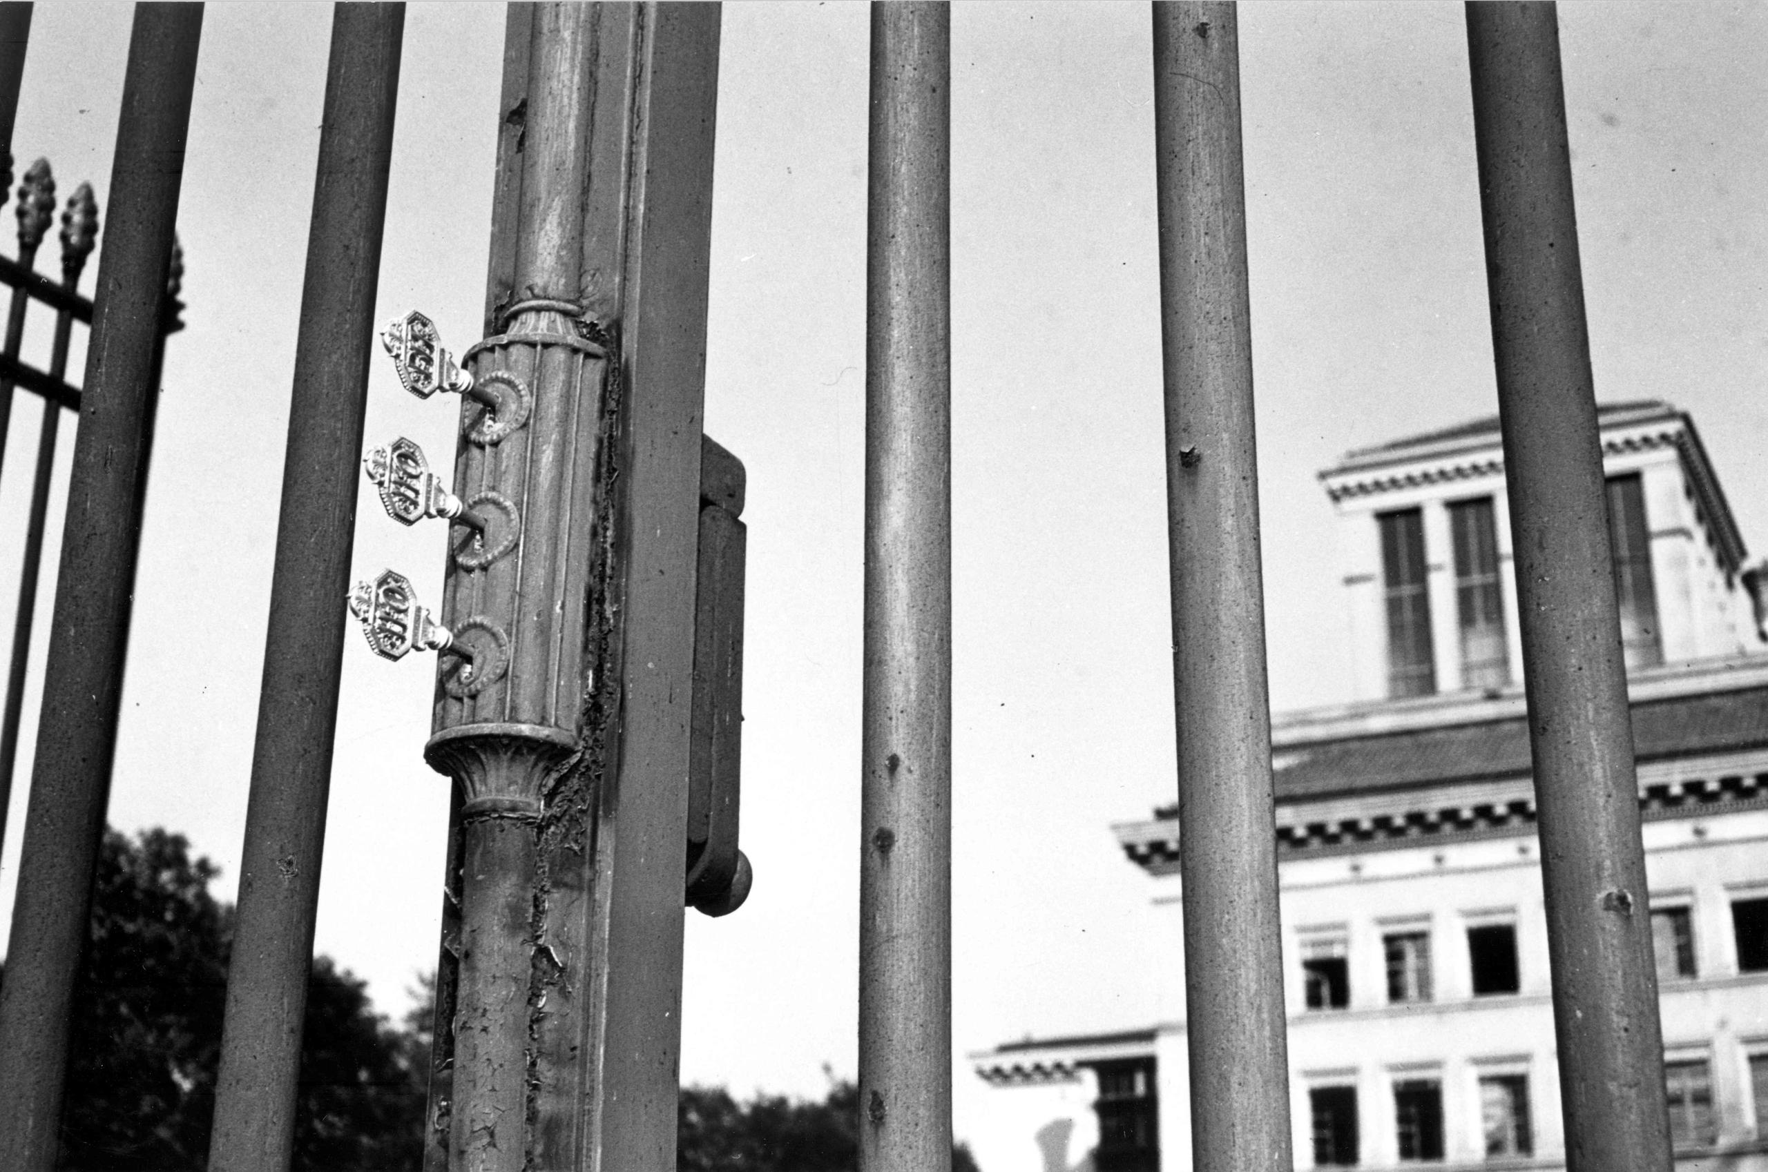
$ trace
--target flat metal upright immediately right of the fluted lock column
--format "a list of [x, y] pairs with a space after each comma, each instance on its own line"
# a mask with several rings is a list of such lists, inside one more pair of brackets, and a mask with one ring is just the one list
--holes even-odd
[[[613, 9], [615, 5], [608, 5]], [[617, 534], [624, 543], [619, 750], [603, 790], [606, 986], [594, 1069], [601, 1168], [675, 1167], [682, 884], [693, 727], [705, 308], [718, 126], [716, 4], [645, 4], [629, 32], [624, 166], [591, 187], [585, 283], [621, 320], [624, 401]], [[613, 21], [610, 21], [613, 25]], [[612, 32], [612, 28], [610, 28]], [[608, 35], [608, 34], [605, 34]], [[605, 57], [603, 69], [610, 58]], [[606, 90], [598, 90], [599, 94]], [[615, 92], [617, 94], [617, 92]], [[613, 97], [613, 94], [610, 94]], [[613, 147], [613, 143], [610, 143]], [[598, 148], [598, 159], [601, 159]], [[608, 161], [617, 159], [612, 150]], [[603, 184], [601, 187], [594, 186]], [[603, 274], [619, 265], [619, 283]], [[587, 278], [596, 274], [598, 281]], [[585, 949], [587, 951], [587, 949]]]

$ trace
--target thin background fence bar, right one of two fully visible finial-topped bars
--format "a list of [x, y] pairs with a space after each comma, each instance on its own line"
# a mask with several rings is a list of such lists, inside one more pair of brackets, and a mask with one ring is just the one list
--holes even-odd
[[[80, 184], [62, 214], [62, 288], [80, 292], [92, 246], [97, 244], [99, 205], [90, 184]], [[55, 341], [50, 348], [50, 378], [67, 375], [67, 348], [74, 332], [74, 315], [62, 309], [55, 316]], [[50, 514], [50, 481], [55, 474], [55, 445], [62, 430], [62, 407], [42, 400], [42, 426], [37, 431], [37, 467], [30, 484], [30, 513], [25, 523], [25, 557], [18, 582], [18, 615], [12, 620], [12, 663], [7, 670], [5, 712], [0, 714], [0, 847], [5, 845], [7, 810], [12, 803], [12, 772], [18, 764], [18, 730], [25, 709], [25, 675], [30, 670], [30, 635], [37, 617], [37, 580], [42, 573], [42, 534]]]

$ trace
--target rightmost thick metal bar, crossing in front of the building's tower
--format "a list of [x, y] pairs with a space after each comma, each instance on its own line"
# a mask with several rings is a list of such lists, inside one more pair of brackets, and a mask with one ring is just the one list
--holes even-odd
[[1632, 714], [1551, 4], [1469, 4], [1566, 1167], [1671, 1167]]

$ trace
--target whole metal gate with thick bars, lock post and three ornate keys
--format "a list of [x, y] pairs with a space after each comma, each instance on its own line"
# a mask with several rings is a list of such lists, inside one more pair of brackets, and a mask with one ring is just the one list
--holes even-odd
[[[347, 582], [403, 7], [336, 9], [210, 1168], [288, 1163], [347, 594], [380, 654], [437, 652], [426, 758], [451, 778], [454, 815], [426, 1167], [674, 1163], [682, 907], [723, 914], [748, 886], [744, 474], [698, 428], [718, 19], [714, 5], [509, 9], [484, 338], [449, 350], [423, 315], [382, 338], [408, 391], [458, 394], [451, 474], [410, 444], [370, 454], [394, 520], [449, 534], [431, 612], [396, 573]], [[28, 21], [28, 5], [0, 9], [7, 126]], [[868, 1172], [948, 1167], [951, 1151], [948, 21], [934, 4], [872, 9]], [[1192, 2], [1156, 4], [1153, 23], [1193, 1160], [1275, 1172], [1292, 1156], [1238, 27], [1232, 5]], [[14, 387], [50, 403], [39, 486], [58, 410], [80, 410], [80, 523], [62, 543], [0, 992], [7, 1168], [55, 1160], [152, 391], [177, 329], [168, 274], [200, 28], [200, 5], [136, 11], [94, 299], [78, 293], [90, 194], [69, 212], [62, 285], [32, 270], [46, 170], [25, 182], [19, 258], [0, 265], [14, 290], [0, 421]], [[1469, 5], [1467, 42], [1568, 1165], [1667, 1168], [1554, 9]], [[67, 331], [92, 323], [78, 389], [57, 362], [19, 362], [34, 301], [57, 313], [62, 364]]]

